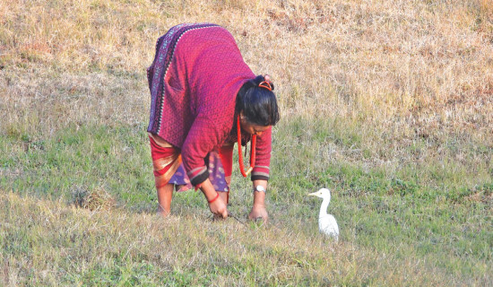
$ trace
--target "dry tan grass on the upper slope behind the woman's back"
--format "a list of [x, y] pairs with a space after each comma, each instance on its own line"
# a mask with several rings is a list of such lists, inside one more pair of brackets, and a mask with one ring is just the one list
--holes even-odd
[[486, 0], [4, 1], [1, 126], [143, 123], [155, 40], [179, 22], [218, 22], [255, 73], [272, 74], [286, 120], [352, 118], [371, 150], [377, 129], [404, 145], [467, 133], [491, 146], [491, 13]]

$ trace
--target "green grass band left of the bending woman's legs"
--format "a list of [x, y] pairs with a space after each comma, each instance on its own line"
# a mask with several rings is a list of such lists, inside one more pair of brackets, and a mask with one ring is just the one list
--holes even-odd
[[67, 198], [74, 189], [102, 185], [125, 201], [142, 202], [150, 196], [152, 178], [141, 128], [69, 126], [38, 141], [22, 135], [4, 138], [9, 152], [1, 166], [21, 170], [23, 176], [3, 178], [3, 186]]

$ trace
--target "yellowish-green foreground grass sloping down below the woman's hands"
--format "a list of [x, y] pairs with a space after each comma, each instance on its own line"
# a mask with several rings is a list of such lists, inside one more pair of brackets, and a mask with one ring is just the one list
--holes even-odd
[[[478, 258], [464, 264], [469, 258], [421, 254], [413, 244], [365, 248], [351, 243], [355, 237], [371, 238], [365, 231], [350, 238], [346, 232], [340, 244], [333, 244], [316, 236], [307, 220], [292, 220], [290, 229], [210, 222], [205, 213], [162, 220], [146, 213], [91, 213], [9, 193], [1, 203], [7, 220], [2, 258], [9, 261], [7, 272], [16, 272], [7, 274], [12, 284], [317, 286], [489, 280], [489, 266]], [[371, 229], [359, 223], [355, 230]], [[406, 279], [411, 274], [420, 276]]]

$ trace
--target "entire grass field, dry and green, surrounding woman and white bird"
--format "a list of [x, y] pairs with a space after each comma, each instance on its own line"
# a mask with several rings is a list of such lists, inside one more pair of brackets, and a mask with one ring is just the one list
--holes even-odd
[[[266, 225], [237, 166], [239, 221], [155, 214], [145, 68], [180, 22], [276, 84]], [[493, 285], [490, 0], [6, 0], [0, 115], [0, 285]]]

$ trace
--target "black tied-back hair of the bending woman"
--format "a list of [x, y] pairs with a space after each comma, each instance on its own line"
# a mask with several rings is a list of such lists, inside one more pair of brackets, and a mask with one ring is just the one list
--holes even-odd
[[241, 86], [238, 91], [235, 112], [243, 112], [249, 123], [258, 126], [274, 126], [279, 121], [279, 109], [273, 83], [272, 91], [258, 85], [265, 81], [263, 75], [257, 75]]

